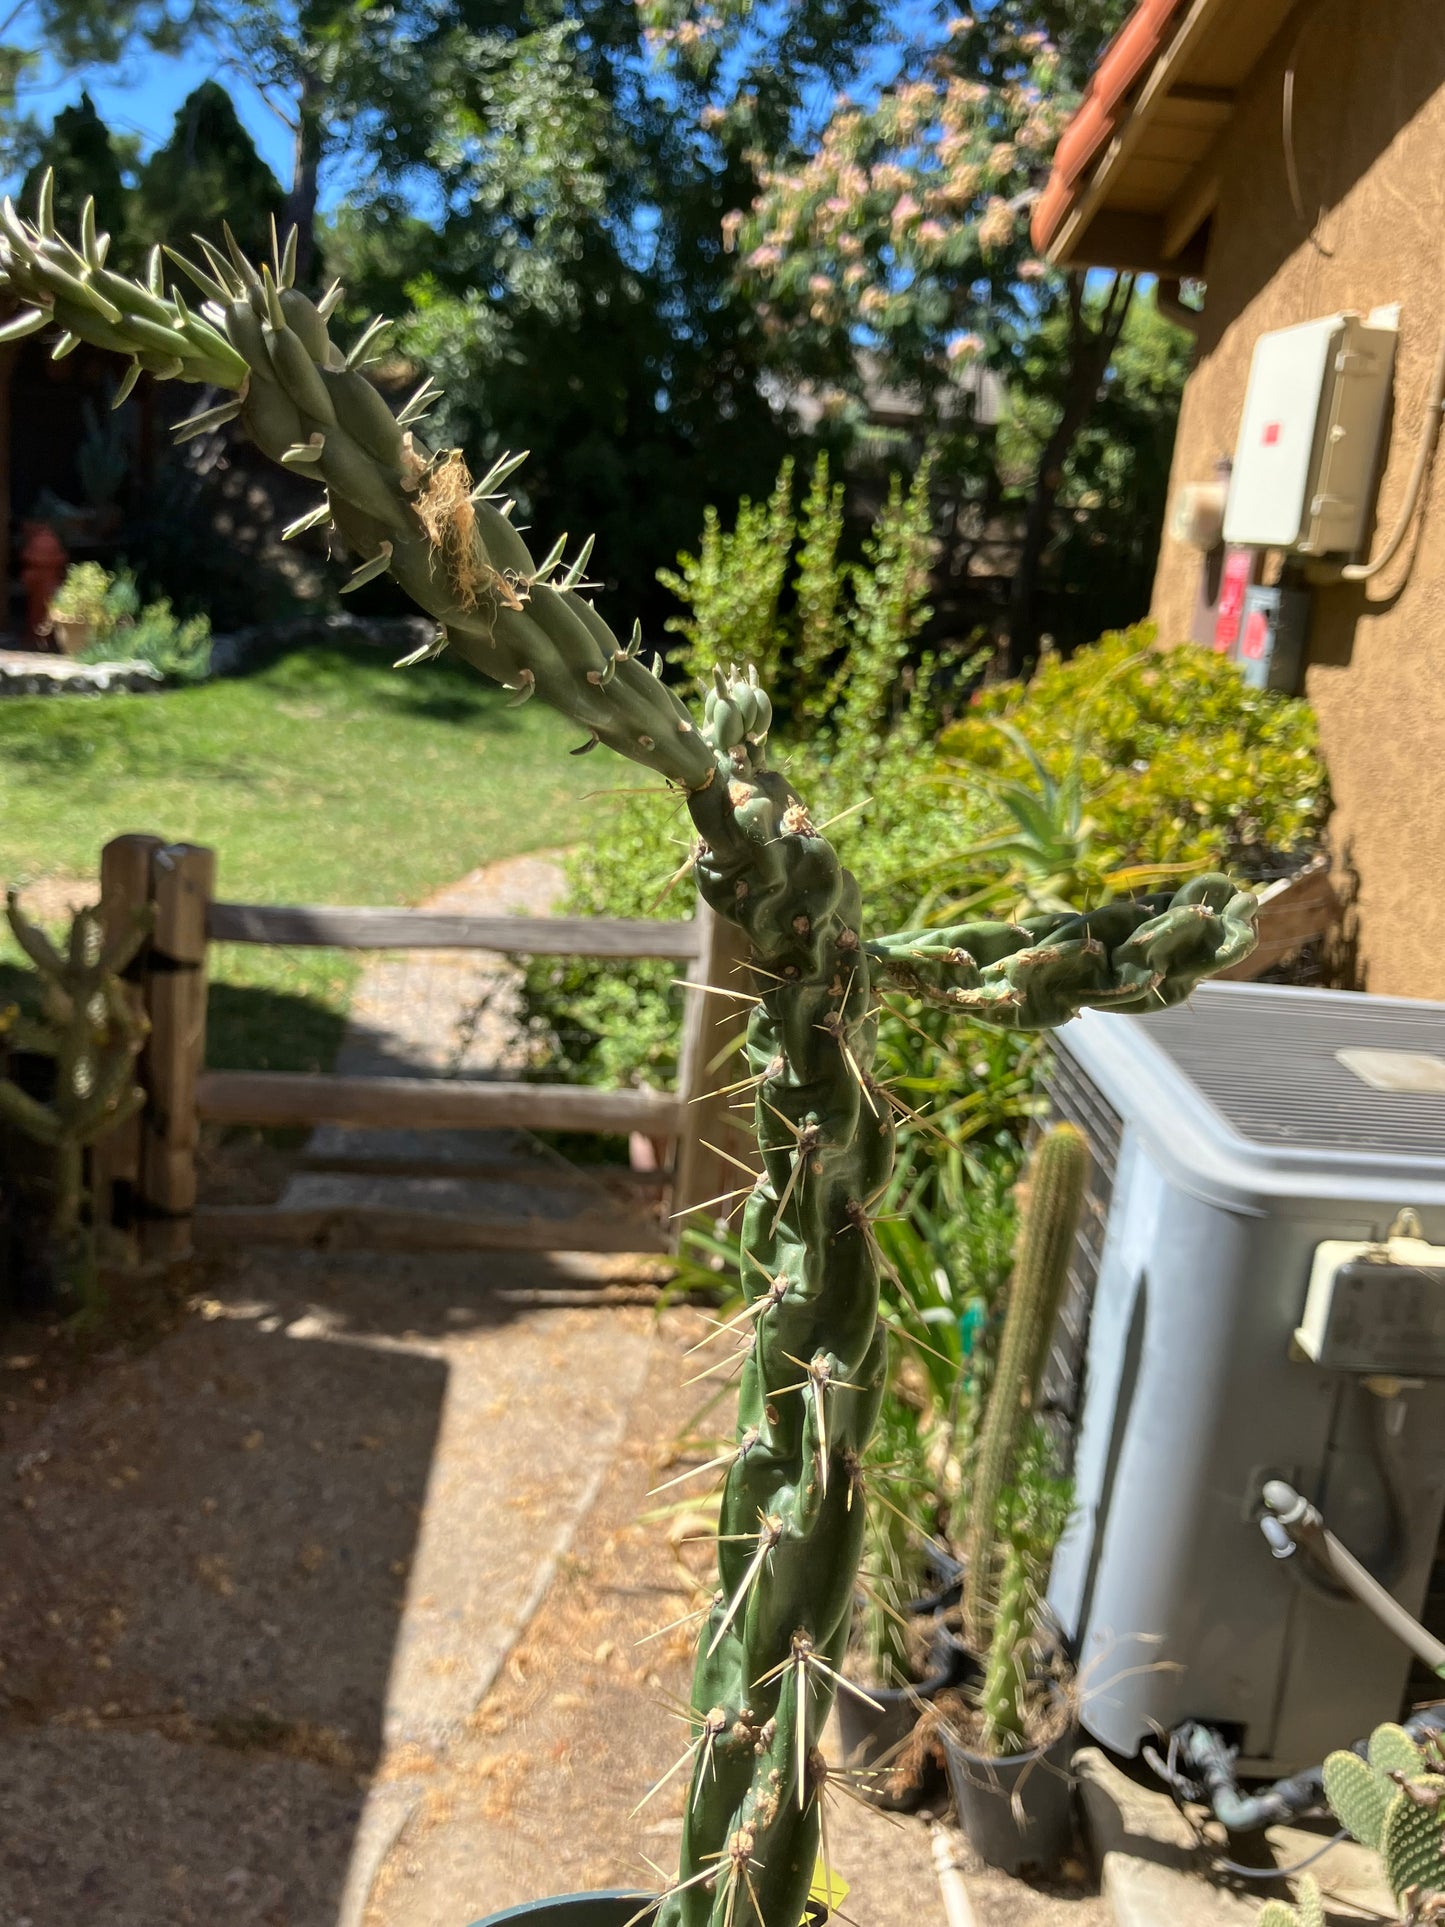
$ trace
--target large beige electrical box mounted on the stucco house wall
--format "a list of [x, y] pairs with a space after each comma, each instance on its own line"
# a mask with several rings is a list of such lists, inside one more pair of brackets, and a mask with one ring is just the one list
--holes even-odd
[[1248, 370], [1223, 540], [1358, 555], [1370, 518], [1397, 330], [1329, 314], [1260, 335]]

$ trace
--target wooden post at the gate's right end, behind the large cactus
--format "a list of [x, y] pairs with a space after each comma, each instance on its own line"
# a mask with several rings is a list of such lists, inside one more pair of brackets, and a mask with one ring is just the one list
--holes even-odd
[[[672, 1210], [688, 1212], [711, 1224], [728, 1204], [709, 1202], [746, 1183], [744, 1172], [722, 1152], [757, 1168], [751, 1135], [740, 1123], [734, 1104], [748, 1098], [746, 1091], [726, 1093], [748, 1075], [742, 1052], [742, 1033], [748, 1023], [748, 1004], [740, 996], [753, 990], [753, 973], [746, 967], [748, 938], [736, 923], [715, 915], [697, 898], [697, 956], [688, 969], [688, 1008], [682, 1016], [682, 1058], [678, 1064], [678, 1096], [682, 1123], [672, 1160]], [[703, 989], [732, 990], [734, 996], [715, 996]], [[705, 1210], [703, 1210], [705, 1206]], [[690, 1216], [672, 1220], [674, 1243], [682, 1237]]]

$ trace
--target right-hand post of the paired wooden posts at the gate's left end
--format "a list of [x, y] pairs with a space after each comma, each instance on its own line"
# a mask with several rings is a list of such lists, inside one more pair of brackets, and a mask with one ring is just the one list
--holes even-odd
[[156, 927], [146, 962], [150, 1041], [141, 1114], [141, 1202], [146, 1253], [179, 1258], [191, 1249], [197, 1204], [197, 1081], [206, 1056], [206, 906], [216, 852], [164, 844], [150, 856]]

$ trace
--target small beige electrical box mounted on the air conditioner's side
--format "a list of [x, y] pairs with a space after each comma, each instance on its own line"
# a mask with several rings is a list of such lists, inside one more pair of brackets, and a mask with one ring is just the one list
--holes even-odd
[[1295, 1343], [1329, 1372], [1445, 1378], [1445, 1245], [1316, 1245]]

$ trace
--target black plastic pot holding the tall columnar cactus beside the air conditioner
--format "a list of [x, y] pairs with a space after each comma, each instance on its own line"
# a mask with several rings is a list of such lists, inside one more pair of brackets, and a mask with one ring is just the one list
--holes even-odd
[[[1062, 1694], [1056, 1705], [1064, 1705]], [[1044, 1746], [1008, 1759], [971, 1752], [946, 1727], [942, 1742], [958, 1823], [985, 1865], [1052, 1873], [1073, 1840], [1073, 1719]]]

